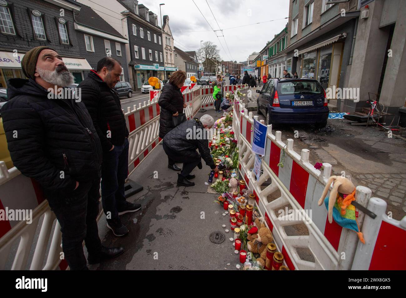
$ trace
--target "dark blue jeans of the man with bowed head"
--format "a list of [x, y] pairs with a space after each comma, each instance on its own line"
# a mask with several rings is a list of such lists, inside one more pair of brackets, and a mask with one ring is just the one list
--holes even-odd
[[117, 207], [125, 202], [124, 183], [128, 176], [128, 146], [128, 139], [125, 139], [123, 145], [114, 145], [113, 150], [103, 152], [102, 204], [108, 221], [118, 219]]

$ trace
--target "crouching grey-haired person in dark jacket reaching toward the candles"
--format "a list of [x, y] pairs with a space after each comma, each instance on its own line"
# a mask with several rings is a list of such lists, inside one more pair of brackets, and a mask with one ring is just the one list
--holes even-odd
[[[164, 151], [174, 161], [183, 163], [183, 168], [178, 174], [177, 186], [194, 186], [190, 181], [195, 176], [190, 174], [197, 166], [202, 168], [201, 158], [211, 169], [218, 171], [214, 164], [209, 149], [209, 129], [212, 128], [214, 119], [210, 115], [203, 115], [199, 119], [190, 119], [179, 124], [164, 137]], [[196, 151], [199, 149], [199, 152]]]

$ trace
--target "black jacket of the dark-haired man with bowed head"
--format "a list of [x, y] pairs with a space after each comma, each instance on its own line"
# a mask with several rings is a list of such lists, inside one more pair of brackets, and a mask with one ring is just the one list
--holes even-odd
[[[117, 91], [110, 89], [93, 71], [78, 88], [81, 88], [82, 101], [93, 119], [103, 151], [109, 151], [113, 145], [123, 145], [128, 130]], [[107, 137], [107, 131], [111, 132], [111, 137]]]

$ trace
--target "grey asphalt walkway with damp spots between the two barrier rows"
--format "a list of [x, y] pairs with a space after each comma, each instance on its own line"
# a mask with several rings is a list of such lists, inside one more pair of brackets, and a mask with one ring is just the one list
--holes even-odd
[[[207, 108], [196, 117], [203, 114], [218, 119], [213, 108]], [[99, 221], [102, 243], [123, 246], [125, 252], [116, 259], [91, 265], [90, 269], [237, 270], [239, 255], [234, 253], [229, 240], [233, 237], [229, 216], [223, 216], [222, 206], [214, 202], [218, 195], [207, 193], [205, 182], [210, 168], [203, 161], [203, 169], [196, 168], [193, 172], [196, 185], [177, 187], [177, 172], [168, 169], [166, 161], [162, 146], [157, 146], [130, 176], [144, 189], [127, 199], [142, 204], [142, 209], [121, 216], [129, 234], [115, 237], [106, 227], [106, 217], [102, 216]], [[158, 172], [158, 178], [153, 178], [154, 171]], [[229, 229], [228, 233], [222, 228], [223, 224]], [[225, 240], [220, 244], [210, 242], [212, 232], [221, 232]]]

